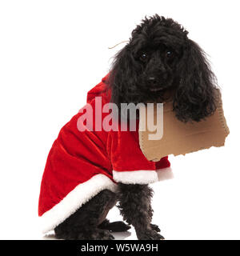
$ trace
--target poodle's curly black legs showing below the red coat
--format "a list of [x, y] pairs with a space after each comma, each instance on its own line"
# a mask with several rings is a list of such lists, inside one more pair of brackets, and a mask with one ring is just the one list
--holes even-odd
[[129, 224], [136, 230], [138, 239], [163, 239], [157, 225], [151, 224], [153, 210], [150, 206], [153, 190], [147, 185], [126, 185], [119, 183], [119, 192], [102, 190], [86, 202], [74, 214], [66, 218], [55, 229], [58, 239], [112, 240], [109, 231], [122, 232], [130, 229], [124, 222], [109, 222], [106, 215], [119, 201], [118, 208]]

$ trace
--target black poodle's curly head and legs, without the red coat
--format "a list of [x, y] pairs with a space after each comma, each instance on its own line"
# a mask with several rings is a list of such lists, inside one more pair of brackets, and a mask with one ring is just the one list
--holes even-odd
[[[111, 101], [162, 102], [171, 92], [173, 110], [182, 122], [199, 122], [217, 106], [216, 78], [206, 54], [187, 37], [188, 32], [171, 18], [155, 14], [132, 32], [114, 58], [110, 70]], [[138, 239], [162, 239], [151, 223], [153, 191], [148, 185], [118, 183], [118, 193], [102, 190], [55, 229], [57, 238], [113, 239], [109, 231], [124, 231], [124, 222], [106, 220], [118, 202], [123, 219], [134, 226]], [[136, 210], [138, 209], [138, 210]]]

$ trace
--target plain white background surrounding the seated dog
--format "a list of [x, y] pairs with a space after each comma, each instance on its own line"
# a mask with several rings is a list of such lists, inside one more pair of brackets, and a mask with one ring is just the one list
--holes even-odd
[[[107, 47], [158, 13], [210, 55], [230, 135], [225, 147], [170, 156], [174, 179], [152, 185], [154, 223], [166, 239], [239, 239], [238, 10], [238, 1], [1, 1], [0, 238], [48, 238], [38, 194], [50, 146], [124, 44]], [[120, 220], [118, 209], [109, 218]]]

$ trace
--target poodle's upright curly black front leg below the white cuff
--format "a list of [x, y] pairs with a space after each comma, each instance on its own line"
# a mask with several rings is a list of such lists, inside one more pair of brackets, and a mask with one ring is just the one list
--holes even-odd
[[118, 209], [123, 219], [133, 225], [139, 240], [164, 239], [158, 226], [151, 224], [153, 190], [147, 185], [118, 183]]

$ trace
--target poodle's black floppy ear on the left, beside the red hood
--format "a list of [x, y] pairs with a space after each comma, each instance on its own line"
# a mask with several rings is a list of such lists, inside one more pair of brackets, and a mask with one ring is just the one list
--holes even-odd
[[114, 56], [110, 69], [111, 102], [117, 105], [126, 100], [131, 102], [136, 94], [136, 70], [138, 68], [131, 54], [130, 45], [127, 44]]

